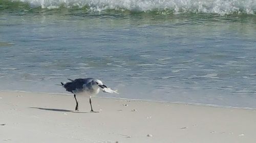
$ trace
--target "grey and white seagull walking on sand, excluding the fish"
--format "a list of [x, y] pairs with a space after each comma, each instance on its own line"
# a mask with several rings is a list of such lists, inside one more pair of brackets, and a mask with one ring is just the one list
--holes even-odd
[[[90, 96], [90, 105], [91, 105], [91, 112], [95, 112], [92, 107], [92, 100], [91, 97], [97, 95], [99, 93], [99, 87], [104, 89], [107, 88], [106, 85], [102, 83], [99, 79], [94, 78], [77, 78], [75, 80], [69, 79], [70, 82], [63, 83], [60, 82], [62, 87], [66, 89], [66, 91], [71, 92], [74, 94], [75, 100], [76, 95], [86, 95]], [[76, 100], [76, 108], [75, 110], [78, 111], [78, 102]]]

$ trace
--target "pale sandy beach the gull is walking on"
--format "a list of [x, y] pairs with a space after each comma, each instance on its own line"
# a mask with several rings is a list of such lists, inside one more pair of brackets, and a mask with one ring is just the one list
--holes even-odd
[[100, 112], [89, 112], [86, 98], [73, 111], [72, 95], [0, 92], [0, 142], [256, 142], [255, 110], [92, 101]]

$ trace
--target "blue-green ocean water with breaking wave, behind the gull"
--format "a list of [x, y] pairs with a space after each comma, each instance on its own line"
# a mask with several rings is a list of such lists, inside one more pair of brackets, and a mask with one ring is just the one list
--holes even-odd
[[[0, 0], [0, 90], [256, 108], [255, 0]], [[67, 93], [68, 94], [68, 93]]]

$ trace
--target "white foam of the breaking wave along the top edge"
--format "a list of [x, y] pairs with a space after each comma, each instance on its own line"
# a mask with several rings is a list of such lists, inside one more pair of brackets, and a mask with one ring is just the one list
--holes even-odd
[[60, 6], [67, 8], [88, 6], [91, 11], [130, 10], [137, 12], [158, 11], [164, 13], [247, 13], [254, 14], [256, 1], [254, 0], [20, 0], [29, 3], [31, 7], [54, 9]]

